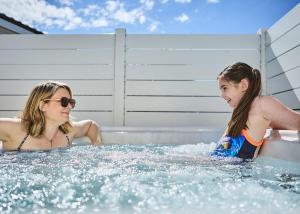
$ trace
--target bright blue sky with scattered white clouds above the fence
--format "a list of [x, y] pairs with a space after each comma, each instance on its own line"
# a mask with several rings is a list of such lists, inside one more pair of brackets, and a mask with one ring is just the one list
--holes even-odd
[[0, 0], [0, 12], [48, 34], [253, 34], [300, 0]]

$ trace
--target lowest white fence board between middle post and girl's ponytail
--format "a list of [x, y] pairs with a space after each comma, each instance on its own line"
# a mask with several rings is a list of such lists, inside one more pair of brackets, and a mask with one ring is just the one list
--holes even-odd
[[230, 113], [127, 112], [126, 126], [202, 126], [225, 129]]

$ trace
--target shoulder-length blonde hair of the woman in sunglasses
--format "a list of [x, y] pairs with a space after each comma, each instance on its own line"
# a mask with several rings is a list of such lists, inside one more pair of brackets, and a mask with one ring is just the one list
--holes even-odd
[[[72, 97], [72, 91], [65, 83], [47, 81], [33, 88], [21, 115], [21, 123], [27, 134], [33, 137], [42, 135], [45, 130], [46, 120], [44, 113], [40, 110], [40, 102], [50, 99], [60, 88], [66, 89]], [[70, 121], [59, 126], [59, 129], [65, 134], [69, 133], [71, 128]]]

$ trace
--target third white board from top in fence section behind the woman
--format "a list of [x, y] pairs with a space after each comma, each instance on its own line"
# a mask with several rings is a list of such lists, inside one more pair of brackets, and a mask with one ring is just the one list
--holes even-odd
[[1, 79], [113, 79], [112, 65], [0, 65]]

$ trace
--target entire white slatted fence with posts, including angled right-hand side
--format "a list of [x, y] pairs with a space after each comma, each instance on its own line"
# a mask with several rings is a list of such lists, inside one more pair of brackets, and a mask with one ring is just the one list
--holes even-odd
[[225, 127], [216, 77], [236, 61], [261, 69], [266, 92], [299, 110], [299, 10], [262, 35], [0, 35], [0, 117], [17, 116], [35, 84], [59, 80], [73, 89], [77, 120]]

